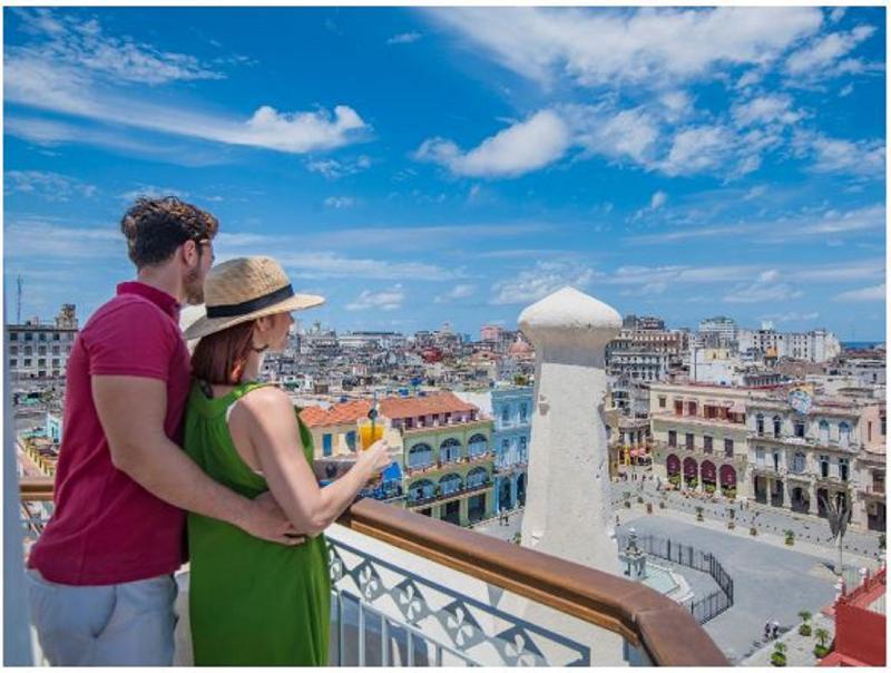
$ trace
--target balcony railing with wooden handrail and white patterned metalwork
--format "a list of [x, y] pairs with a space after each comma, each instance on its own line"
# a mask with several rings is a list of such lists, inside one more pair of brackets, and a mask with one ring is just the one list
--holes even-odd
[[[50, 500], [52, 482], [20, 495]], [[688, 609], [623, 577], [374, 500], [326, 537], [333, 665], [587, 666], [607, 632], [631, 664], [728, 665]], [[528, 621], [522, 605], [554, 618]]]

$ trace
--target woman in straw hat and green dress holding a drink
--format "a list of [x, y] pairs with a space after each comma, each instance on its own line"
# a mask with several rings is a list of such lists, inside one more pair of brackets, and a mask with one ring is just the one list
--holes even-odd
[[322, 531], [391, 459], [379, 441], [320, 488], [312, 437], [288, 397], [256, 382], [263, 353], [282, 351], [291, 311], [321, 304], [294, 294], [270, 257], [214, 267], [206, 315], [185, 332], [200, 341], [186, 411], [185, 449], [214, 479], [245, 496], [271, 490], [304, 544], [263, 542], [189, 515], [189, 617], [197, 665], [325, 665], [330, 581]]

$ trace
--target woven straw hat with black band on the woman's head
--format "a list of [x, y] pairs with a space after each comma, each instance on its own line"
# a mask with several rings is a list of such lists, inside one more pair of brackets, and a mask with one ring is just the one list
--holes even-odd
[[204, 310], [184, 332], [199, 339], [276, 313], [312, 309], [324, 303], [315, 294], [294, 294], [291, 281], [272, 257], [237, 257], [217, 264], [204, 283]]

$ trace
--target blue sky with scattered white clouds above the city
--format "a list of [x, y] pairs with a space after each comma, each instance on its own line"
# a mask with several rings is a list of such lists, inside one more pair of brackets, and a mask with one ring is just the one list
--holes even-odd
[[884, 339], [880, 8], [4, 9], [4, 280], [88, 315], [138, 194], [339, 330], [512, 328], [572, 284], [672, 326]]

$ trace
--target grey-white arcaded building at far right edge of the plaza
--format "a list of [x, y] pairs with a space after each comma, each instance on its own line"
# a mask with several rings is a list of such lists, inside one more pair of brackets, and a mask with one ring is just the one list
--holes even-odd
[[852, 503], [853, 526], [869, 528], [870, 511], [877, 524], [884, 520], [885, 435], [878, 400], [781, 388], [754, 392], [746, 412], [756, 501], [825, 517], [833, 498]]

